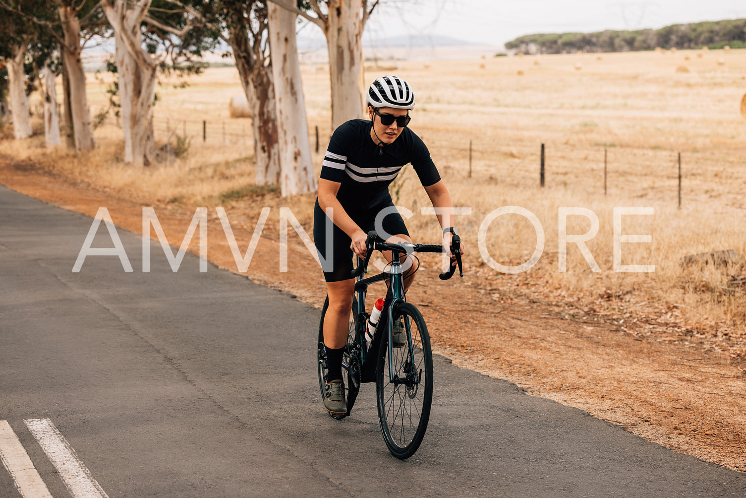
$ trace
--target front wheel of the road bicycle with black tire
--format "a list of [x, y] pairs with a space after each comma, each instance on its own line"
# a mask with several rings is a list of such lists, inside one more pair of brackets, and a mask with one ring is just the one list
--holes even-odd
[[[408, 302], [398, 305], [393, 320], [394, 323], [404, 320], [407, 344], [400, 349], [392, 348], [393, 358], [389, 358], [389, 337], [382, 337], [376, 399], [383, 440], [392, 455], [404, 460], [414, 455], [427, 431], [433, 401], [433, 354], [427, 326], [415, 305]], [[404, 382], [391, 382], [389, 364], [394, 367], [395, 379]]]

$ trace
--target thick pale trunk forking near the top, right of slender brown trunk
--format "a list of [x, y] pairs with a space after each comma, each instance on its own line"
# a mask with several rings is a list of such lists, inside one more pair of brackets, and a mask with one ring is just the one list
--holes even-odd
[[114, 30], [125, 163], [148, 165], [155, 159], [153, 99], [157, 63], [142, 49], [140, 24], [150, 1], [107, 0], [101, 6]]

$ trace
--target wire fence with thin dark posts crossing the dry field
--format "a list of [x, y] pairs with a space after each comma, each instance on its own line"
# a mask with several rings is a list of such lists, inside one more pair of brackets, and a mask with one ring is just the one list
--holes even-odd
[[[114, 116], [107, 117], [101, 125], [121, 128]], [[172, 143], [181, 137], [196, 147], [254, 145], [250, 119], [158, 117], [153, 126], [160, 143]], [[319, 140], [328, 140], [327, 132], [319, 138], [319, 127], [311, 128], [311, 147], [323, 152], [325, 142]], [[638, 198], [670, 199], [678, 207], [686, 199], [722, 197], [724, 205], [746, 209], [742, 201], [742, 191], [746, 189], [745, 158], [727, 152], [682, 153], [612, 143], [574, 145], [559, 141], [530, 145], [476, 137], [439, 147], [437, 158], [439, 169], [446, 175], [451, 171], [474, 181], [574, 187], [604, 195], [624, 193]]]

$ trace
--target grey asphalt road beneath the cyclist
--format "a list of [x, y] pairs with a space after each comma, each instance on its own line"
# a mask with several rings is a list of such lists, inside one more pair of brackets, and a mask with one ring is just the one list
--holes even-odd
[[[53, 497], [65, 473], [26, 420], [48, 420], [109, 497], [746, 495], [741, 473], [440, 357], [427, 435], [399, 461], [374, 385], [347, 420], [325, 413], [318, 310], [194, 255], [173, 273], [157, 243], [142, 273], [123, 230], [132, 273], [114, 256], [73, 273], [91, 223], [0, 187], [0, 420]], [[93, 245], [111, 246], [104, 224]], [[0, 466], [0, 497], [15, 483]]]

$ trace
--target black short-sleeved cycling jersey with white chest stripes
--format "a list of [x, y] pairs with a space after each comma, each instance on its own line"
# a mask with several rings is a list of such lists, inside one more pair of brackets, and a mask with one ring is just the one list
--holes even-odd
[[423, 187], [440, 181], [427, 146], [410, 128], [383, 146], [371, 140], [370, 131], [370, 121], [352, 119], [336, 128], [329, 140], [321, 177], [341, 184], [336, 198], [342, 208], [372, 208], [389, 201], [389, 184], [407, 163]]

